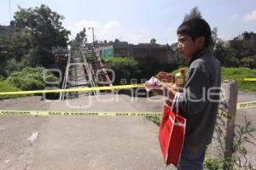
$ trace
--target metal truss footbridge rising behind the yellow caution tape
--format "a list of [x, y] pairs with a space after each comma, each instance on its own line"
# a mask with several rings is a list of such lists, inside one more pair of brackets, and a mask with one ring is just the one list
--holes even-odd
[[[68, 88], [96, 88], [113, 86], [108, 72], [102, 65], [102, 60], [93, 48], [85, 47], [71, 50], [68, 59], [62, 89]], [[98, 94], [114, 94], [114, 90], [95, 90], [85, 92], [63, 92], [61, 99], [75, 99], [82, 96]]]

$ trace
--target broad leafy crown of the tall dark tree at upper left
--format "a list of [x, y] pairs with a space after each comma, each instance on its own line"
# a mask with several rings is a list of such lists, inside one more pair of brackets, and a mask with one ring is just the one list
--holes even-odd
[[61, 20], [64, 17], [41, 4], [36, 8], [20, 8], [14, 15], [15, 26], [31, 31], [34, 46], [53, 48], [67, 47], [70, 31], [67, 31]]

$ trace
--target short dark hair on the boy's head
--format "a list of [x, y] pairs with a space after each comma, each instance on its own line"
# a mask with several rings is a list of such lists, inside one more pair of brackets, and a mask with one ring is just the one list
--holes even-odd
[[185, 20], [177, 28], [177, 34], [187, 34], [195, 41], [198, 37], [205, 37], [205, 47], [209, 47], [212, 38], [212, 31], [206, 20], [194, 18]]

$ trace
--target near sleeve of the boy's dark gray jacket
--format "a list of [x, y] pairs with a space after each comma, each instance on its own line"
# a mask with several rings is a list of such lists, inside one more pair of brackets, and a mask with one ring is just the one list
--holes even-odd
[[177, 101], [182, 116], [195, 115], [205, 108], [208, 87], [209, 79], [205, 72], [196, 68], [189, 69], [183, 93]]

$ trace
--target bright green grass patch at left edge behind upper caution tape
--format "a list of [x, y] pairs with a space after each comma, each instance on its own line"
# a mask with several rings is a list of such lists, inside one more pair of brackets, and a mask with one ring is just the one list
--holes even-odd
[[[13, 85], [11, 85], [8, 82], [0, 82], [0, 92], [16, 92], [20, 91], [20, 88], [15, 88]], [[19, 95], [0, 95], [0, 99], [11, 99], [11, 98], [17, 98], [17, 97], [24, 97], [25, 94], [19, 94]]]

